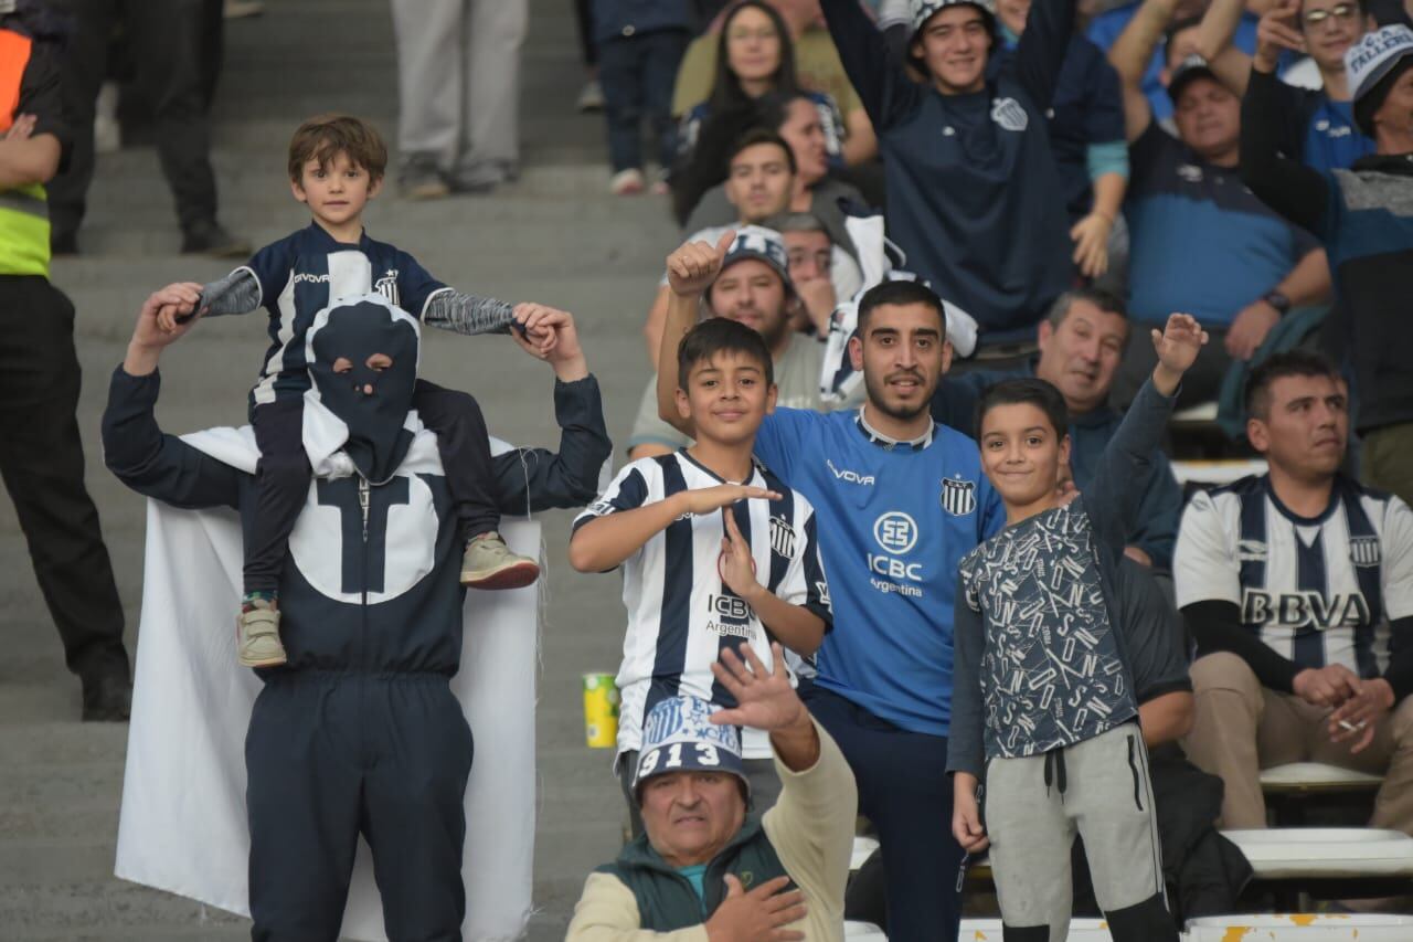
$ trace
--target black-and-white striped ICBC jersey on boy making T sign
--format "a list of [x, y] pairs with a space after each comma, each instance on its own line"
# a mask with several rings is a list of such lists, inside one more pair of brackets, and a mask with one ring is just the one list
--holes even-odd
[[[685, 450], [633, 461], [574, 522], [632, 511], [678, 491], [726, 484]], [[781, 495], [779, 501], [742, 501], [731, 508], [750, 545], [756, 577], [787, 603], [805, 605], [832, 624], [829, 588], [815, 532], [814, 508], [800, 494], [756, 465], [749, 481]], [[643, 717], [664, 697], [691, 694], [722, 706], [735, 699], [712, 676], [723, 648], [749, 641], [769, 649], [769, 632], [750, 605], [722, 583], [718, 563], [726, 511], [685, 513], [656, 533], [623, 563], [627, 634], [617, 672], [619, 751], [640, 747]], [[767, 659], [769, 663], [769, 659]], [[746, 758], [770, 758], [764, 733], [745, 730]]]

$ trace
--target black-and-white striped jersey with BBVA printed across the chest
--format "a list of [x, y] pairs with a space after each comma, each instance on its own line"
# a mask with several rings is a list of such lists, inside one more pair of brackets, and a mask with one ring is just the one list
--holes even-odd
[[1198, 492], [1173, 557], [1178, 607], [1229, 601], [1241, 624], [1299, 668], [1389, 663], [1389, 622], [1413, 615], [1413, 512], [1337, 478], [1317, 518], [1286, 508], [1267, 475]]

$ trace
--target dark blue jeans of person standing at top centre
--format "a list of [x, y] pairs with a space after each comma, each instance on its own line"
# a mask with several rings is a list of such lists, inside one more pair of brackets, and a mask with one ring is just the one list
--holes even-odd
[[599, 44], [599, 83], [613, 173], [643, 168], [644, 117], [657, 141], [658, 163], [671, 165], [677, 153], [673, 85], [690, 41], [687, 30], [656, 30]]

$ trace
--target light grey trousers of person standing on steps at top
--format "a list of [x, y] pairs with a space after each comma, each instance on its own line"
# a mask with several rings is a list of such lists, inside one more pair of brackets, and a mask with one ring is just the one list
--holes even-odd
[[397, 143], [442, 170], [520, 160], [520, 45], [528, 0], [393, 0]]

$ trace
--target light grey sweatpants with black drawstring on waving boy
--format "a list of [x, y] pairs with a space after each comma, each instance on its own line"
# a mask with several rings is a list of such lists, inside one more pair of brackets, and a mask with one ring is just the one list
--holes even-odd
[[983, 815], [1006, 942], [1067, 938], [1077, 830], [1115, 942], [1176, 942], [1137, 723], [1043, 755], [992, 760]]

